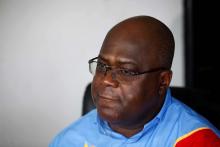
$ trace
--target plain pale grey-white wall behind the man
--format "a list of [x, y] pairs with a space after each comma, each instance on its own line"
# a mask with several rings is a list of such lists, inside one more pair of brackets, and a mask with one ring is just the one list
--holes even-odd
[[184, 85], [182, 0], [0, 0], [0, 147], [43, 147], [81, 115], [87, 61], [135, 15], [176, 39], [172, 85]]

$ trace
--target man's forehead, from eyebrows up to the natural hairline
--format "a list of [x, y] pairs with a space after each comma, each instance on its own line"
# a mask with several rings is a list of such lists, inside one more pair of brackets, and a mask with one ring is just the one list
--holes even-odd
[[111, 64], [133, 63], [147, 68], [155, 64], [155, 51], [146, 41], [138, 41], [129, 36], [107, 38], [101, 48], [100, 56]]

